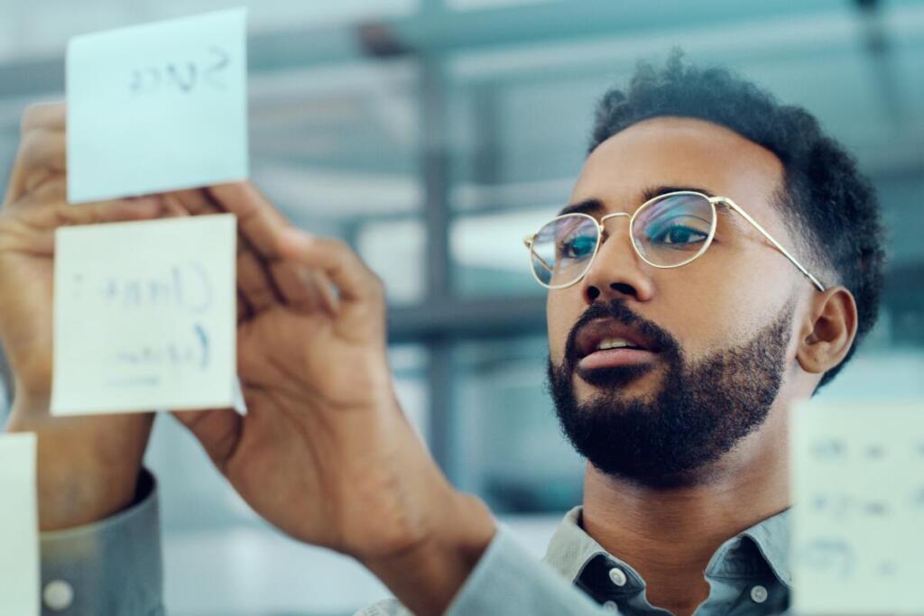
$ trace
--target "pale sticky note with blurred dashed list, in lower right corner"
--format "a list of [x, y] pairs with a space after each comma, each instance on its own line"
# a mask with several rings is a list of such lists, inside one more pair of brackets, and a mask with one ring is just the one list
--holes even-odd
[[924, 613], [924, 401], [807, 403], [792, 422], [796, 613]]

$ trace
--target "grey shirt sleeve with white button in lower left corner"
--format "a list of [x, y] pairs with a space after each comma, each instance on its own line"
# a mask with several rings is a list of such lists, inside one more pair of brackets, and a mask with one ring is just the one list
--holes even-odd
[[43, 533], [43, 616], [163, 616], [157, 487], [144, 471], [138, 498], [100, 522]]

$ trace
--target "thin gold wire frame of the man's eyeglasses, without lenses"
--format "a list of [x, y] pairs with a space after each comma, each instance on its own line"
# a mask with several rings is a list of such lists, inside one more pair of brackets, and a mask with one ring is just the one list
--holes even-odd
[[[654, 203], [658, 203], [659, 201], [663, 199], [667, 199], [668, 197], [676, 197], [677, 195], [693, 195], [693, 196], [701, 197], [702, 199], [706, 199], [707, 201], [709, 201], [710, 207], [712, 208], [712, 223], [711, 223], [711, 228], [709, 231], [709, 236], [706, 238], [706, 241], [703, 243], [702, 248], [699, 248], [699, 251], [695, 255], [690, 257], [689, 259], [682, 261], [680, 263], [677, 263], [676, 265], [658, 265], [657, 263], [652, 263], [650, 260], [646, 259], [645, 255], [643, 255], [641, 253], [641, 250], [638, 248], [638, 246], [636, 246], [635, 236], [632, 233], [632, 225], [635, 223], [636, 217], [638, 216], [638, 212], [645, 211], [646, 208], [650, 207]], [[658, 268], [659, 270], [673, 270], [674, 268], [683, 267], [684, 265], [687, 265], [687, 263], [689, 263], [690, 261], [696, 260], [699, 257], [701, 257], [702, 254], [706, 252], [706, 250], [711, 246], [712, 238], [715, 236], [715, 228], [719, 220], [719, 215], [715, 211], [716, 203], [724, 203], [729, 208], [731, 208], [733, 211], [736, 211], [737, 213], [741, 214], [741, 216], [746, 221], [748, 221], [748, 223], [751, 223], [754, 226], [754, 228], [760, 232], [761, 236], [766, 237], [767, 240], [773, 245], [774, 248], [782, 252], [784, 257], [790, 260], [790, 262], [792, 262], [792, 264], [796, 266], [796, 269], [799, 272], [802, 272], [806, 276], [806, 278], [808, 278], [811, 284], [815, 285], [815, 288], [817, 288], [821, 292], [825, 290], [824, 285], [819, 282], [818, 278], [816, 278], [811, 273], [809, 273], [808, 270], [805, 269], [802, 266], [802, 264], [799, 263], [798, 260], [796, 260], [796, 257], [793, 257], [793, 255], [790, 254], [788, 250], [783, 248], [783, 246], [781, 246], [779, 242], [773, 239], [773, 236], [767, 233], [767, 231], [762, 226], [760, 226], [760, 223], [758, 223], [753, 218], [751, 218], [748, 215], [748, 212], [741, 209], [741, 206], [739, 206], [735, 201], [733, 201], [732, 199], [728, 199], [727, 197], [710, 197], [708, 195], [704, 195], [701, 192], [697, 192], [695, 190], [676, 190], [675, 192], [667, 192], [667, 193], [664, 193], [663, 195], [658, 195], [657, 197], [654, 197], [653, 199], [649, 199], [645, 201], [644, 203], [639, 205], [638, 210], [636, 210], [632, 214], [629, 214], [626, 211], [616, 211], [612, 214], [606, 214], [599, 221], [593, 216], [591, 216], [590, 214], [586, 214], [586, 213], [579, 212], [579, 211], [568, 213], [568, 214], [562, 214], [561, 216], [555, 216], [551, 221], [543, 224], [540, 227], [539, 231], [541, 231], [547, 224], [554, 223], [557, 220], [560, 220], [563, 218], [569, 218], [573, 216], [584, 216], [585, 218], [590, 219], [591, 221], [593, 221], [593, 223], [597, 225], [598, 227], [597, 244], [593, 248], [593, 254], [590, 255], [590, 260], [588, 260], [587, 267], [585, 267], [584, 271], [581, 272], [581, 274], [577, 276], [577, 278], [571, 281], [570, 283], [567, 283], [567, 284], [545, 284], [543, 283], [540, 280], [539, 275], [536, 273], [536, 268], [533, 267], [533, 258], [535, 258], [536, 260], [539, 260], [542, 266], [545, 267], [545, 269], [549, 270], [549, 272], [552, 272], [553, 268], [550, 268], [548, 266], [548, 263], [542, 260], [542, 258], [539, 255], [537, 255], [535, 251], [532, 249], [533, 244], [536, 241], [536, 237], [539, 236], [539, 231], [537, 231], [536, 233], [523, 238], [524, 246], [526, 246], [526, 248], [529, 249], [529, 272], [532, 272], [532, 277], [536, 279], [537, 283], [541, 284], [547, 289], [552, 289], [552, 290], [565, 289], [569, 286], [574, 286], [575, 284], [579, 283], [581, 280], [583, 280], [584, 276], [587, 275], [587, 272], [590, 272], [590, 265], [593, 263], [593, 260], [596, 259], [597, 253], [600, 251], [600, 247], [603, 243], [602, 237], [603, 237], [603, 234], [605, 233], [605, 229], [603, 228], [603, 223], [610, 220], [611, 218], [618, 218], [619, 216], [625, 216], [626, 218], [629, 219], [629, 243], [632, 245], [632, 249], [635, 250], [639, 259], [645, 261], [653, 268]]]

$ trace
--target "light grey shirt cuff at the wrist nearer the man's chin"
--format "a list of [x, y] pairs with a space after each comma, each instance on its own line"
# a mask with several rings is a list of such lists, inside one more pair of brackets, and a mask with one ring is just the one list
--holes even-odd
[[612, 616], [499, 528], [444, 616]]

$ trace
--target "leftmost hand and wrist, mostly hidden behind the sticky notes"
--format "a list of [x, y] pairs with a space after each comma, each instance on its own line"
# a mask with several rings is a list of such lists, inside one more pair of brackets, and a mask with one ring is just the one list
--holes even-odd
[[55, 229], [68, 224], [144, 220], [161, 199], [67, 204], [65, 106], [30, 107], [0, 210], [0, 342], [15, 379], [6, 429], [39, 437], [43, 530], [89, 523], [131, 503], [152, 415], [51, 417], [52, 287]]

